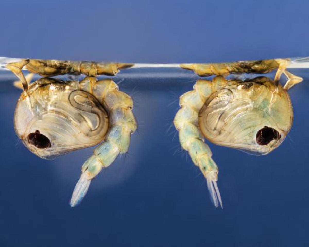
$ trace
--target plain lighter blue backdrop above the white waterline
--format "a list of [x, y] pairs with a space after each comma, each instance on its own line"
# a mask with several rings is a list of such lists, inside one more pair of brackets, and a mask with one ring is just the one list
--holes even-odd
[[307, 57], [307, 0], [2, 0], [0, 56], [144, 63]]

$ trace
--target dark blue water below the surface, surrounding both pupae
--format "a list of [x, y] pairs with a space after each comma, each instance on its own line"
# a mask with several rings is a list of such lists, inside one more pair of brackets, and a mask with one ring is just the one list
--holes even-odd
[[[123, 71], [139, 123], [129, 154], [91, 183], [83, 202], [69, 200], [93, 148], [43, 160], [16, 145], [13, 115], [20, 90], [1, 81], [1, 246], [307, 246], [309, 244], [309, 81], [290, 90], [294, 124], [266, 156], [210, 145], [224, 209], [169, 127], [191, 72]], [[136, 72], [136, 70], [135, 70]], [[10, 79], [11, 78], [11, 79]]]

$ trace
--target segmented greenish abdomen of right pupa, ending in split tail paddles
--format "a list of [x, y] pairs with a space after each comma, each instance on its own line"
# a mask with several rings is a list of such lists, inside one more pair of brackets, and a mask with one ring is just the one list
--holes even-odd
[[[222, 77], [210, 81], [197, 81], [195, 90], [180, 97], [180, 110], [177, 112], [174, 125], [179, 131], [180, 145], [187, 150], [193, 163], [198, 166], [207, 180], [210, 198], [216, 207], [222, 207], [222, 200], [217, 186], [218, 167], [211, 158], [212, 153], [204, 142], [204, 137], [198, 128], [198, 113], [216, 86], [226, 83]], [[222, 207], [223, 208], [223, 207]]]

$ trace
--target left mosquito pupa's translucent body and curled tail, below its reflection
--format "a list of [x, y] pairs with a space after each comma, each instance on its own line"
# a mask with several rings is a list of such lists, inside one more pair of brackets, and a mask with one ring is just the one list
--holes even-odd
[[[110, 79], [86, 77], [80, 82], [63, 82], [41, 78], [20, 96], [15, 130], [27, 148], [43, 158], [103, 141], [82, 166], [70, 202], [76, 206], [86, 195], [91, 179], [128, 151], [131, 133], [137, 128], [132, 108], [131, 97]], [[50, 147], [37, 148], [29, 141], [29, 134], [36, 131], [50, 140]]]

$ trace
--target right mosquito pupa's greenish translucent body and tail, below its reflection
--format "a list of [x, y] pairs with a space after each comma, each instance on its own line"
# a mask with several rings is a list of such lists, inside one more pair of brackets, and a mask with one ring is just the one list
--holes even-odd
[[[218, 167], [204, 137], [215, 144], [250, 153], [269, 153], [290, 131], [292, 106], [286, 90], [266, 77], [242, 82], [219, 76], [212, 81], [197, 80], [193, 88], [180, 97], [181, 108], [174, 125], [179, 131], [181, 147], [204, 174], [214, 205], [222, 207], [216, 183]], [[261, 145], [257, 141], [258, 132], [265, 127], [279, 134]]]

